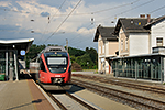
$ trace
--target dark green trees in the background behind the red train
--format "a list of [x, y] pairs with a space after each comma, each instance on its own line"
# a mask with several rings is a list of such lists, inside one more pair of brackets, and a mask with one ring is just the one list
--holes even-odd
[[[54, 46], [54, 44], [48, 44], [47, 46]], [[55, 45], [57, 46], [57, 45]], [[29, 68], [29, 63], [31, 59], [35, 58], [37, 54], [44, 50], [46, 45], [32, 44], [26, 57], [26, 66]], [[72, 58], [72, 63], [78, 63], [82, 68], [97, 68], [98, 66], [98, 53], [92, 47], [86, 47], [86, 51], [68, 47], [68, 53]]]

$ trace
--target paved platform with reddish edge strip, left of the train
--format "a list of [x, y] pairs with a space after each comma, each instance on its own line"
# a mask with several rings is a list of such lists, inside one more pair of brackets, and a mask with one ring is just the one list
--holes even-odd
[[54, 110], [32, 79], [0, 81], [0, 110]]

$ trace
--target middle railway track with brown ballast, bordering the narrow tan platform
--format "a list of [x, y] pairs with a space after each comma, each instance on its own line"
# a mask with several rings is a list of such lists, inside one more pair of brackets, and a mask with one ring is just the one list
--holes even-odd
[[101, 96], [106, 96], [112, 100], [120, 101], [122, 103], [127, 103], [136, 109], [152, 109], [152, 110], [164, 110], [165, 102], [142, 97], [139, 95], [121, 91], [118, 89], [112, 89], [103, 86], [96, 85], [96, 82], [87, 82], [82, 80], [72, 79], [72, 82], [89, 89], [94, 92], [97, 92]]

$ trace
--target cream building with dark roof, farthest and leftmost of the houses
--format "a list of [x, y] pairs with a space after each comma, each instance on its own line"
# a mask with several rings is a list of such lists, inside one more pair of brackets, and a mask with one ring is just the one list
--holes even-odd
[[113, 35], [114, 28], [99, 25], [94, 42], [98, 42], [98, 73], [112, 73], [109, 58], [116, 57], [118, 51], [118, 38]]

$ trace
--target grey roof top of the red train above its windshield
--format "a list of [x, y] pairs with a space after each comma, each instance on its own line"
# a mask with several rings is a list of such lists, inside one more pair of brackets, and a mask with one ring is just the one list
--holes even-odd
[[42, 53], [46, 52], [67, 52], [67, 51], [63, 46], [47, 46], [42, 51]]

